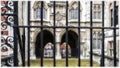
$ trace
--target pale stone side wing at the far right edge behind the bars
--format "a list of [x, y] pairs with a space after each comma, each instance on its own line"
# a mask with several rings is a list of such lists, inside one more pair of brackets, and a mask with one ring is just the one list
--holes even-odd
[[[106, 16], [105, 18], [105, 27], [113, 27], [113, 2], [107, 2], [106, 3]], [[108, 12], [108, 13], [107, 13]], [[116, 27], [119, 27], [119, 2], [116, 3]], [[108, 22], [108, 23], [107, 23]], [[113, 56], [113, 52], [111, 51], [113, 49], [113, 30], [106, 29], [105, 30], [105, 44], [109, 45], [106, 46], [106, 51], [108, 52], [107, 55]], [[119, 29], [116, 30], [116, 46], [117, 46], [117, 57], [119, 57]], [[112, 53], [111, 53], [112, 52]]]

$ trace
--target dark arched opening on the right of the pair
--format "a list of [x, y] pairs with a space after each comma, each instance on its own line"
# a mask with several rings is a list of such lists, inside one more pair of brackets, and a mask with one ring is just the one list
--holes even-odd
[[[61, 38], [61, 45], [66, 41], [66, 33]], [[78, 35], [74, 31], [68, 31], [68, 45], [70, 46], [71, 57], [78, 56]], [[63, 56], [62, 56], [63, 57]]]

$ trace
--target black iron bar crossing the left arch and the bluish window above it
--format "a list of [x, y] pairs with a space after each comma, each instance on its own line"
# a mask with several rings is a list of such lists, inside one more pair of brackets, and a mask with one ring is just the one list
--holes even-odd
[[[41, 1], [41, 26], [43, 26], [43, 1]], [[40, 33], [40, 45], [41, 45], [41, 48], [40, 48], [40, 56], [41, 56], [41, 67], [43, 67], [43, 28], [41, 27], [41, 33]]]

